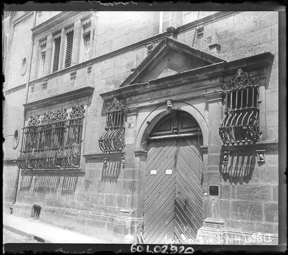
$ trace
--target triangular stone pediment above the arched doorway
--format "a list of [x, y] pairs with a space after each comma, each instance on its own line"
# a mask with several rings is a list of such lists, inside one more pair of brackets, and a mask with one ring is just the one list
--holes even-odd
[[120, 87], [146, 83], [225, 60], [165, 37]]

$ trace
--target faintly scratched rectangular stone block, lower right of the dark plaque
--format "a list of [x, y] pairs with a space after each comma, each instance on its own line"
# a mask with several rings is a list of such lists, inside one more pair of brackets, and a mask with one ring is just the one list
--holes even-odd
[[261, 202], [231, 201], [230, 219], [238, 221], [262, 221]]

